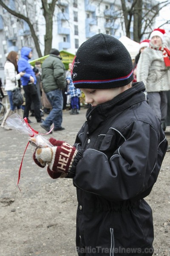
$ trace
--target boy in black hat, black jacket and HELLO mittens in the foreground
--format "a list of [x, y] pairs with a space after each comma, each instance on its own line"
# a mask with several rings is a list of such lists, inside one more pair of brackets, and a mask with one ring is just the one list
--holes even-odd
[[167, 140], [133, 80], [129, 52], [116, 38], [98, 34], [83, 43], [72, 64], [74, 86], [92, 110], [74, 146], [53, 138], [34, 161], [52, 178], [77, 187], [79, 256], [153, 254], [153, 218], [144, 197], [161, 168]]

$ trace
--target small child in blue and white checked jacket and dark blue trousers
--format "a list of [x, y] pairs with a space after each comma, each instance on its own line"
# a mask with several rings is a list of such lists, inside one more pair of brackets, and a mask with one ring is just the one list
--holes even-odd
[[[74, 87], [73, 80], [71, 76], [66, 77], [66, 81], [68, 83], [69, 94], [71, 96], [71, 111], [70, 114], [79, 114], [79, 96], [80, 96], [80, 89]], [[68, 93], [67, 93], [68, 94]]]

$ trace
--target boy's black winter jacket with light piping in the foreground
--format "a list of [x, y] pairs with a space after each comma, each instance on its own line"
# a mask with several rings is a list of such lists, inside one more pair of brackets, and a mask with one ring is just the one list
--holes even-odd
[[156, 182], [167, 140], [143, 82], [133, 85], [93, 108], [77, 134], [69, 177], [77, 187], [81, 256], [153, 254], [152, 210], [143, 198]]

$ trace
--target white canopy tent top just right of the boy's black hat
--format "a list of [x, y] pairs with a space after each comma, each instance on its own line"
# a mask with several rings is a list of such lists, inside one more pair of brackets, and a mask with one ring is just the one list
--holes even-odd
[[119, 38], [119, 41], [121, 41], [122, 44], [125, 45], [126, 49], [130, 53], [131, 58], [134, 59], [135, 56], [139, 53], [139, 43], [131, 40], [125, 35]]

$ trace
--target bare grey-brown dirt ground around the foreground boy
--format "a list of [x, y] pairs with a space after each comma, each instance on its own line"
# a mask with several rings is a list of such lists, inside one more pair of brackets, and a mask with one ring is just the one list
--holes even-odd
[[[79, 115], [63, 112], [64, 131], [52, 135], [74, 143], [86, 109]], [[35, 122], [34, 117], [31, 120]], [[36, 122], [31, 126], [42, 133]], [[168, 127], [170, 128], [170, 127]], [[166, 132], [170, 142], [170, 129]], [[48, 138], [50, 135], [47, 136]], [[32, 160], [34, 148], [28, 146], [21, 170], [18, 170], [28, 137], [0, 128], [0, 256], [77, 256], [76, 189], [71, 179], [53, 180], [46, 169]], [[146, 201], [153, 209], [154, 255], [170, 256], [170, 152]]]

